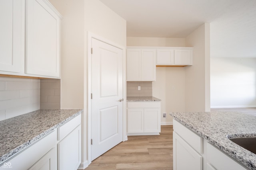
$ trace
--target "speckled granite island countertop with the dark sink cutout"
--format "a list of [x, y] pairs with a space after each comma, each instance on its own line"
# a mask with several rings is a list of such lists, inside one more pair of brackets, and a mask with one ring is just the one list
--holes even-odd
[[256, 137], [256, 116], [238, 112], [170, 113], [180, 123], [210, 141], [251, 170], [256, 170], [256, 154], [236, 145], [229, 137]]

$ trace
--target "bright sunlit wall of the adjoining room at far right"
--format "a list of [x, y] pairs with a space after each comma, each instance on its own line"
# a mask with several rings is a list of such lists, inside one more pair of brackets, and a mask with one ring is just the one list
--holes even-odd
[[211, 107], [256, 107], [256, 58], [211, 57]]

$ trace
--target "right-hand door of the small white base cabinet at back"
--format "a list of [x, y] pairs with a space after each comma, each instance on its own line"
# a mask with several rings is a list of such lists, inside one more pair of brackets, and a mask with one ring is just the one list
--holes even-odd
[[144, 132], [160, 132], [160, 109], [144, 109]]

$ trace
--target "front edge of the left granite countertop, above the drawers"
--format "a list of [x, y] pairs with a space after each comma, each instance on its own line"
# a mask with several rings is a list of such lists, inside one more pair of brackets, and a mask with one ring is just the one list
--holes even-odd
[[[33, 137], [32, 139], [30, 139], [29, 141], [23, 143], [22, 145], [16, 147], [15, 149], [11, 150], [10, 152], [3, 154], [2, 156], [0, 156], [0, 164], [2, 164], [5, 160], [8, 160], [9, 158], [15, 156], [16, 154], [18, 154], [20, 151], [26, 149], [27, 147], [29, 147], [30, 145], [34, 144], [36, 141], [42, 139], [42, 137], [48, 135], [50, 132], [54, 131], [55, 129], [57, 129], [58, 127], [60, 127], [61, 125], [63, 125], [64, 123], [66, 123], [67, 121], [71, 120], [72, 118], [76, 117], [77, 115], [80, 115], [82, 113], [83, 109], [81, 109], [80, 111], [78, 111], [77, 113], [74, 113], [73, 115], [71, 115], [70, 117], [67, 117], [66, 119], [64, 119], [63, 121], [57, 123], [56, 125], [50, 127], [49, 129], [47, 129], [46, 131], [44, 131], [43, 133], [40, 133], [39, 135]], [[32, 113], [32, 112], [30, 112]], [[22, 115], [21, 115], [22, 116]]]

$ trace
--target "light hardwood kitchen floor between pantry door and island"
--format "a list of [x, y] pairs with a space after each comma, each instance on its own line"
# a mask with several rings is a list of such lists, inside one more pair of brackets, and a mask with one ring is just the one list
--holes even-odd
[[164, 125], [160, 135], [128, 136], [85, 170], [172, 170], [172, 131]]

